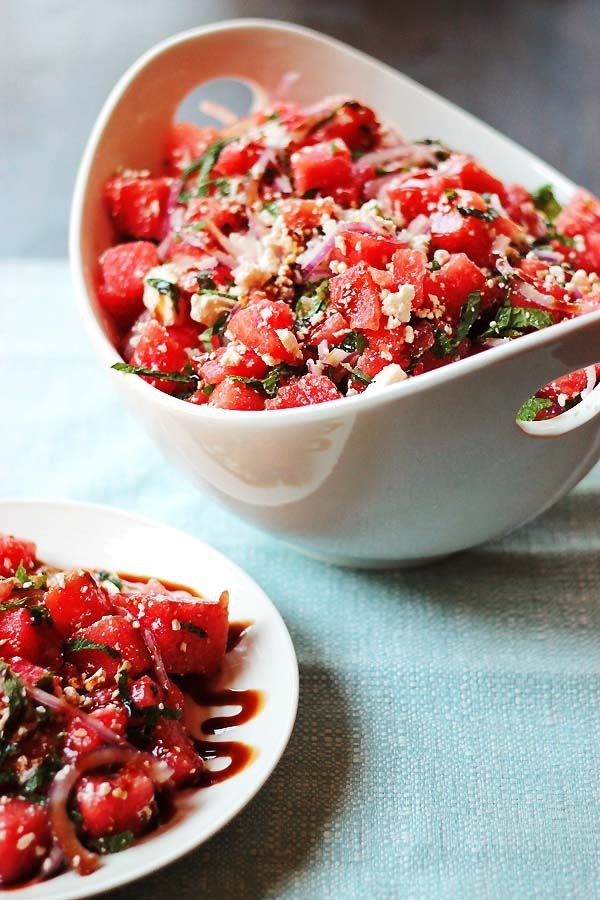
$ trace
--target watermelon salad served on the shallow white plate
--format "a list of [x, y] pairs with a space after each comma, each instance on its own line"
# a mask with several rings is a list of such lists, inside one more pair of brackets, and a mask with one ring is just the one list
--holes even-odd
[[218, 670], [227, 605], [0, 535], [0, 886], [94, 871], [202, 783], [172, 676]]

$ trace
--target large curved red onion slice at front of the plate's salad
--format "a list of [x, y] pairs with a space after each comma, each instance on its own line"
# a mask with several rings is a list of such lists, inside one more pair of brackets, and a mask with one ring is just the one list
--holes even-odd
[[77, 837], [75, 824], [68, 812], [71, 792], [86, 772], [105, 766], [125, 766], [128, 763], [140, 764], [155, 784], [164, 784], [173, 774], [164, 762], [133, 747], [103, 747], [101, 750], [85, 753], [75, 763], [64, 766], [56, 773], [50, 785], [48, 811], [52, 833], [57, 846], [80, 875], [95, 872], [100, 865], [100, 857], [84, 847]]

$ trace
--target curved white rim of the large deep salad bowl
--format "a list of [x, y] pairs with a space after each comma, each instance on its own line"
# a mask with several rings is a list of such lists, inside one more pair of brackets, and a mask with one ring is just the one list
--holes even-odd
[[[413, 87], [418, 88], [420, 91], [423, 91], [432, 99], [435, 99], [436, 101], [441, 100], [451, 109], [459, 112], [463, 116], [467, 116], [469, 119], [476, 122], [478, 126], [486, 129], [490, 134], [501, 137], [502, 140], [518, 148], [520, 152], [529, 156], [532, 161], [535, 161], [536, 163], [542, 163], [543, 166], [548, 169], [553, 176], [556, 176], [556, 180], [561, 183], [563, 188], [566, 188], [570, 191], [575, 190], [576, 185], [565, 175], [558, 172], [558, 170], [554, 169], [549, 164], [543, 162], [543, 160], [541, 160], [535, 154], [531, 153], [531, 151], [522, 147], [516, 141], [512, 140], [512, 138], [508, 137], [505, 134], [502, 134], [496, 128], [483, 122], [481, 119], [479, 119], [477, 116], [474, 116], [467, 110], [462, 109], [462, 107], [459, 107], [453, 101], [447, 100], [441, 94], [438, 94], [437, 92], [430, 90], [424, 85], [421, 85], [419, 82], [415, 81], [407, 75], [404, 75], [402, 72], [399, 72], [392, 66], [380, 62], [375, 57], [372, 57], [369, 54], [364, 53], [363, 51], [338, 40], [337, 38], [325, 35], [315, 29], [306, 28], [305, 26], [275, 19], [244, 18], [228, 19], [222, 22], [217, 22], [178, 32], [158, 42], [157, 44], [154, 44], [143, 54], [141, 54], [132, 63], [132, 65], [129, 66], [129, 68], [125, 71], [125, 73], [113, 87], [90, 133], [75, 182], [75, 189], [71, 204], [69, 229], [69, 257], [71, 278], [75, 290], [76, 302], [79, 307], [80, 314], [84, 319], [86, 330], [90, 335], [92, 342], [96, 346], [101, 358], [105, 360], [106, 364], [109, 366], [112, 366], [116, 362], [122, 362], [123, 358], [118, 353], [116, 347], [112, 344], [107, 334], [104, 332], [98, 320], [98, 316], [93, 309], [91, 292], [88, 290], [85, 282], [80, 247], [80, 230], [85, 199], [85, 189], [91, 171], [93, 156], [98, 144], [98, 140], [102, 135], [107, 122], [110, 120], [115, 103], [123, 95], [124, 91], [130, 84], [130, 82], [137, 76], [138, 72], [143, 69], [148, 63], [150, 63], [156, 56], [159, 56], [165, 50], [173, 46], [186, 43], [190, 39], [194, 39], [201, 35], [239, 29], [250, 30], [253, 28], [262, 28], [265, 30], [286, 32], [291, 34], [302, 34], [313, 40], [318, 40], [321, 43], [330, 44], [343, 49], [346, 53], [351, 55], [353, 54], [363, 61], [375, 63], [382, 69], [392, 73], [395, 77], [400, 78], [407, 84], [410, 84]], [[502, 361], [508, 358], [523, 356], [528, 353], [534, 353], [536, 350], [541, 350], [544, 347], [559, 343], [562, 340], [563, 336], [566, 337], [573, 331], [579, 331], [581, 328], [585, 328], [586, 325], [591, 326], [593, 322], [599, 320], [600, 310], [585, 313], [575, 319], [556, 323], [549, 328], [543, 329], [542, 331], [524, 335], [516, 340], [507, 342], [502, 346], [489, 348], [485, 351], [482, 351], [481, 353], [475, 354], [474, 356], [470, 356], [465, 359], [455, 360], [454, 362], [451, 362], [446, 366], [442, 366], [430, 372], [425, 372], [418, 377], [409, 377], [406, 380], [399, 382], [398, 384], [388, 385], [385, 388], [371, 390], [370, 392], [363, 391], [362, 393], [356, 394], [351, 397], [341, 397], [341, 404], [338, 400], [335, 400], [326, 401], [325, 403], [312, 404], [309, 406], [292, 407], [288, 409], [230, 410], [211, 407], [207, 404], [198, 406], [193, 403], [187, 403], [176, 397], [172, 397], [171, 395], [166, 394], [163, 391], [158, 390], [157, 388], [144, 381], [143, 378], [140, 378], [138, 376], [130, 376], [129, 383], [131, 390], [135, 391], [139, 396], [140, 402], [154, 402], [157, 406], [161, 407], [167, 413], [171, 413], [172, 415], [181, 415], [183, 417], [191, 418], [192, 420], [196, 421], [218, 420], [222, 424], [227, 422], [233, 425], [235, 423], [236, 426], [243, 425], [250, 428], [255, 428], [257, 424], [260, 423], [261, 427], [277, 428], [287, 426], [292, 420], [296, 419], [299, 419], [300, 421], [306, 423], [321, 419], [339, 420], [342, 417], [351, 417], [363, 411], [373, 410], [381, 406], [395, 403], [396, 400], [399, 400], [404, 396], [412, 396], [418, 393], [422, 393], [423, 391], [427, 391], [430, 388], [434, 389], [441, 383], [461, 381], [464, 378], [467, 378], [472, 374], [480, 371], [484, 367], [488, 368], [494, 363], [500, 364], [502, 363]], [[114, 378], [122, 378], [124, 376], [124, 373], [119, 372], [113, 372], [111, 374]], [[526, 399], [527, 398], [524, 397], [523, 402]], [[342, 412], [342, 410], [344, 410], [344, 412]], [[515, 416], [516, 413], [517, 410], [515, 410]], [[564, 415], [568, 415], [568, 412], [563, 413], [563, 416]], [[257, 416], [260, 418], [257, 419]]]

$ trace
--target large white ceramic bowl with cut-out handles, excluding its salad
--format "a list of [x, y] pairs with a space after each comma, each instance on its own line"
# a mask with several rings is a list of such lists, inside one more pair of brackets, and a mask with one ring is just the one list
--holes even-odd
[[[284, 73], [292, 99], [356, 96], [409, 137], [441, 137], [530, 188], [564, 176], [451, 103], [344, 44], [282, 23], [242, 20], [177, 35], [121, 79], [90, 138], [72, 210], [76, 292], [102, 364], [117, 360], [94, 296], [99, 254], [112, 239], [102, 202], [119, 167], [159, 165], [180, 101], [218, 76], [250, 85], [257, 102]], [[334, 563], [423, 562], [529, 521], [600, 455], [593, 392], [578, 409], [522, 428], [521, 404], [559, 375], [600, 357], [600, 313], [566, 322], [418, 378], [302, 409], [197, 408], [141, 379], [115, 384], [167, 458], [240, 516]], [[544, 438], [544, 439], [542, 439]]]

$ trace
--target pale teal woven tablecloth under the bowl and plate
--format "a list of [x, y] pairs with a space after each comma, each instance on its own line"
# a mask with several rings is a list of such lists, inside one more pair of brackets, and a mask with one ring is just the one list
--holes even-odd
[[501, 542], [338, 570], [161, 457], [93, 355], [65, 263], [3, 263], [0, 294], [0, 495], [110, 503], [205, 538], [279, 606], [300, 664], [266, 787], [115, 900], [600, 897], [598, 469]]

